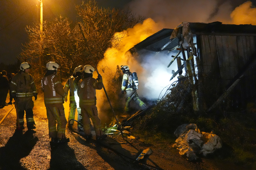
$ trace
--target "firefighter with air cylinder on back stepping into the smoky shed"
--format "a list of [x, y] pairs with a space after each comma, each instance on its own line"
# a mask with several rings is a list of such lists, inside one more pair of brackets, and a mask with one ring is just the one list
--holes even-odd
[[122, 92], [122, 94], [124, 94], [124, 91], [125, 91], [125, 97], [124, 97], [125, 98], [125, 107], [124, 107], [125, 113], [130, 114], [131, 100], [133, 100], [136, 104], [138, 104], [142, 110], [146, 109], [147, 105], [139, 99], [136, 88], [133, 87], [133, 82], [131, 82], [131, 81], [133, 81], [131, 78], [132, 73], [130, 72], [129, 67], [127, 65], [122, 65], [121, 70], [124, 73], [121, 92]]

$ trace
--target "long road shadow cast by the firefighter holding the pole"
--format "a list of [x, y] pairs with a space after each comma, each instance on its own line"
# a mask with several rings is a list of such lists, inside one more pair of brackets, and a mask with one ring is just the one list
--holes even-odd
[[88, 147], [96, 150], [98, 155], [115, 170], [131, 170], [131, 169], [145, 170], [145, 169], [147, 169], [144, 166], [141, 166], [136, 163], [134, 164], [128, 158], [118, 155], [115, 152], [103, 147], [102, 144], [105, 146], [108, 146], [110, 148], [113, 148], [116, 151], [118, 151], [126, 156], [129, 156], [131, 158], [134, 157], [134, 155], [136, 153], [130, 152], [130, 151], [122, 148], [121, 144], [110, 144], [110, 143], [119, 143], [118, 141], [112, 139], [111, 137], [107, 137], [104, 140], [94, 142], [91, 140], [85, 141], [79, 136], [79, 137], [76, 137], [76, 140], [78, 140], [78, 142], [81, 143], [82, 145], [88, 146]]

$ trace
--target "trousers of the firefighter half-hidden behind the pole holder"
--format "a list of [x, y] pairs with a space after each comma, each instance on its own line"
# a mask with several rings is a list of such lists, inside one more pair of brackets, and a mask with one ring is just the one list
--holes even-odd
[[[81, 114], [81, 108], [79, 107], [79, 103], [69, 103], [69, 115], [68, 115], [68, 122], [71, 120], [71, 119], [75, 119], [75, 109], [77, 109], [77, 112], [78, 112], [78, 115], [77, 115], [77, 121], [81, 124], [83, 124], [83, 121], [82, 121], [82, 114]], [[78, 123], [77, 125], [77, 129], [78, 131], [83, 131], [83, 126], [81, 126], [80, 124]], [[74, 124], [74, 121], [71, 120], [70, 121], [70, 124]]]

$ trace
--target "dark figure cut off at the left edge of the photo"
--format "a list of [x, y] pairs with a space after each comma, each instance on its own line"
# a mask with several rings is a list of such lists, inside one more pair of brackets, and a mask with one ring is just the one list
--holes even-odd
[[3, 108], [4, 106], [7, 106], [6, 104], [6, 97], [9, 91], [9, 81], [7, 78], [7, 72], [2, 71], [2, 74], [0, 76], [0, 107]]

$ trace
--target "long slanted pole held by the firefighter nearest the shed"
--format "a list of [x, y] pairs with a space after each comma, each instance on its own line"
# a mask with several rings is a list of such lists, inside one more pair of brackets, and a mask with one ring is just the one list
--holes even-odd
[[[92, 56], [91, 51], [90, 51], [90, 48], [89, 48], [89, 46], [88, 46], [88, 44], [87, 44], [87, 39], [86, 39], [85, 36], [84, 36], [84, 32], [83, 32], [83, 30], [82, 30], [82, 27], [81, 27], [80, 23], [78, 23], [78, 26], [79, 26], [79, 28], [80, 28], [80, 30], [81, 30], [81, 33], [82, 33], [83, 37], [84, 37], [85, 46], [86, 46], [86, 48], [87, 48], [87, 50], [88, 50], [88, 52], [89, 52], [89, 55], [90, 55], [91, 60], [92, 60], [92, 62], [93, 62], [93, 64], [94, 64], [94, 67], [95, 67], [95, 69], [96, 69], [96, 71], [97, 71], [97, 73], [98, 73], [98, 75], [99, 75], [100, 73], [99, 73], [99, 71], [98, 71], [98, 69], [97, 69], [97, 65], [96, 65], [96, 63], [95, 63], [95, 60], [93, 59], [93, 56]], [[102, 82], [102, 84], [103, 84], [103, 82]], [[104, 91], [105, 91], [105, 94], [106, 94], [108, 103], [109, 103], [109, 105], [110, 105], [110, 107], [111, 107], [111, 109], [112, 109], [112, 112], [114, 113], [114, 116], [115, 116], [117, 125], [118, 125], [118, 127], [119, 127], [119, 129], [120, 129], [120, 132], [121, 132], [121, 134], [122, 134], [122, 137], [123, 137], [123, 139], [124, 139], [121, 126], [120, 126], [119, 121], [118, 121], [118, 119], [117, 119], [117, 117], [116, 117], [116, 113], [115, 113], [115, 111], [114, 111], [114, 108], [113, 108], [113, 106], [112, 106], [112, 104], [111, 104], [111, 102], [110, 102], [110, 100], [109, 100], [109, 97], [108, 97], [108, 95], [107, 95], [107, 91], [106, 91], [106, 89], [105, 89], [105, 87], [104, 87], [104, 84], [103, 84], [103, 89], [104, 89]]]

